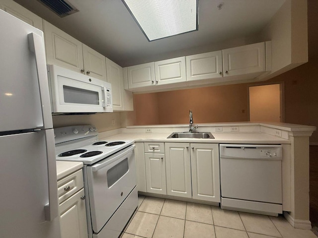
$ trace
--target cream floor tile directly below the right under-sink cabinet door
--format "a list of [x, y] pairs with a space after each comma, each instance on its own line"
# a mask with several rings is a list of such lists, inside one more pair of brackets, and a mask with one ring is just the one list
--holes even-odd
[[188, 202], [185, 219], [213, 225], [211, 206]]

